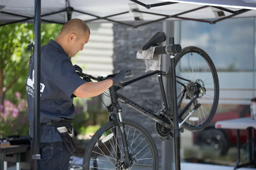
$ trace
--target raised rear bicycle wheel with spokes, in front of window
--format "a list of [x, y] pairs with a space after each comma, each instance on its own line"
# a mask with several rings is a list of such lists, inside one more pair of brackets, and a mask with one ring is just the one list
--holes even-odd
[[[186, 58], [187, 54], [191, 54], [190, 58]], [[192, 60], [196, 63], [196, 66], [192, 66]], [[189, 64], [191, 64], [191, 66], [185, 67], [185, 65]], [[182, 124], [182, 127], [188, 131], [200, 131], [212, 121], [218, 107], [219, 80], [216, 68], [210, 56], [204, 50], [195, 46], [185, 47], [175, 56], [175, 67], [179, 123], [182, 123], [185, 117], [189, 115], [189, 112], [192, 112]], [[195, 71], [201, 71], [201, 73], [196, 74]], [[171, 67], [168, 73], [172, 74]], [[179, 77], [187, 79], [190, 82], [184, 81]], [[211, 77], [213, 81], [210, 81]], [[191, 107], [185, 112], [182, 112], [182, 109], [184, 109], [196, 95], [199, 95], [196, 101], [193, 102]], [[170, 110], [171, 113], [173, 113], [171, 77], [168, 77], [168, 98]], [[198, 105], [199, 103], [201, 106]], [[193, 111], [197, 105], [200, 107]], [[206, 117], [207, 112], [208, 117]]]

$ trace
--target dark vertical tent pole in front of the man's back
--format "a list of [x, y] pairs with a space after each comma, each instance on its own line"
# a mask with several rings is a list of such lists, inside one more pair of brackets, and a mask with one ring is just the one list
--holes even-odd
[[34, 170], [39, 170], [40, 155], [40, 74], [41, 74], [41, 0], [35, 0], [35, 49], [34, 49], [34, 145], [33, 165]]

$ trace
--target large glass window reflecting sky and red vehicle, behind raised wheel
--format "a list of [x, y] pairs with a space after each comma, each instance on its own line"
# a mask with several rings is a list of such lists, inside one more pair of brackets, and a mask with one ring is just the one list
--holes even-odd
[[[220, 85], [219, 105], [211, 124], [203, 131], [184, 130], [184, 133], [181, 133], [181, 160], [235, 166], [236, 130], [215, 129], [214, 125], [219, 120], [250, 116], [250, 100], [254, 97], [255, 90], [255, 18], [225, 19], [215, 25], [195, 21], [180, 22], [181, 46], [202, 48], [211, 57], [217, 69]], [[207, 78], [206, 74], [210, 70], [206, 69], [209, 67], [206, 67], [203, 58], [183, 58], [178, 64], [178, 75], [191, 77], [194, 75], [193, 71], [196, 71], [202, 72], [200, 75], [196, 74], [202, 80]], [[206, 88], [212, 88], [210, 82], [206, 84], [209, 84]], [[210, 110], [209, 100], [211, 98], [201, 100], [205, 110]], [[185, 105], [186, 103], [181, 107]], [[240, 135], [240, 141], [244, 143], [247, 131], [241, 130]], [[247, 162], [245, 147], [241, 149], [241, 162]]]

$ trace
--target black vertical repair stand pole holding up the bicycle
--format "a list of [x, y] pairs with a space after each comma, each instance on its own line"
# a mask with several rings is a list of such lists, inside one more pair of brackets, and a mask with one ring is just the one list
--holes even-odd
[[[174, 44], [174, 38], [169, 38], [169, 43]], [[173, 139], [174, 139], [174, 159], [175, 170], [180, 170], [180, 129], [178, 122], [178, 107], [177, 107], [177, 92], [176, 92], [176, 71], [175, 71], [175, 58], [171, 54], [171, 67], [172, 67], [172, 103], [173, 103]]]

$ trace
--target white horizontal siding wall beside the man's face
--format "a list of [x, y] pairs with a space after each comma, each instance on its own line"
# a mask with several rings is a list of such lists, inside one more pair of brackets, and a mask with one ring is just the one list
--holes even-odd
[[112, 23], [88, 23], [91, 31], [84, 50], [72, 61], [83, 68], [84, 73], [106, 76], [113, 71], [113, 29]]

